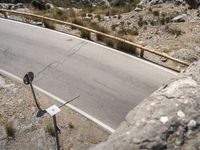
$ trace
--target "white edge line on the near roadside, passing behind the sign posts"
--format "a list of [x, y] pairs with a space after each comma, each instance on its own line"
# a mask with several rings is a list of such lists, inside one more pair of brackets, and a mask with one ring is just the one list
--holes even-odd
[[[5, 76], [7, 76], [7, 77], [10, 77], [10, 78], [12, 78], [12, 79], [18, 80], [18, 81], [20, 81], [21, 83], [23, 83], [23, 80], [22, 80], [20, 77], [14, 75], [14, 74], [12, 74], [12, 73], [9, 73], [9, 72], [7, 72], [7, 71], [5, 71], [5, 70], [0, 69], [0, 74], [5, 75]], [[47, 92], [46, 90], [44, 90], [44, 89], [42, 89], [42, 88], [40, 88], [40, 87], [38, 87], [38, 86], [35, 86], [35, 85], [34, 85], [34, 88], [37, 89], [38, 91], [40, 91], [40, 92], [46, 94], [47, 96], [49, 96], [49, 97], [55, 99], [56, 101], [58, 101], [58, 102], [60, 102], [60, 103], [62, 103], [62, 104], [65, 103], [65, 101], [64, 101], [63, 99], [61, 99], [61, 98], [59, 98], [59, 97], [57, 97], [57, 96], [55, 96], [55, 95], [53, 95], [53, 94]], [[101, 126], [102, 128], [104, 128], [105, 130], [109, 131], [110, 133], [115, 132], [115, 130], [114, 130], [113, 128], [111, 128], [111, 127], [109, 127], [108, 125], [104, 124], [104, 123], [101, 122], [100, 120], [98, 120], [98, 119], [92, 117], [91, 115], [87, 114], [86, 112], [80, 110], [79, 108], [77, 108], [77, 107], [75, 107], [75, 106], [73, 106], [73, 105], [71, 105], [71, 104], [66, 104], [66, 106], [68, 106], [68, 107], [71, 108], [72, 110], [74, 110], [74, 111], [80, 113], [81, 115], [85, 116], [85, 117], [88, 118], [89, 120], [95, 122], [97, 125]]]

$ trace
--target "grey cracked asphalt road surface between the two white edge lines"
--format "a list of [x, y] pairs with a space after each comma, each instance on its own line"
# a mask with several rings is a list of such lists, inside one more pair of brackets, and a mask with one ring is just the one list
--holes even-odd
[[0, 68], [68, 100], [116, 129], [126, 114], [175, 76], [137, 58], [67, 34], [0, 19]]

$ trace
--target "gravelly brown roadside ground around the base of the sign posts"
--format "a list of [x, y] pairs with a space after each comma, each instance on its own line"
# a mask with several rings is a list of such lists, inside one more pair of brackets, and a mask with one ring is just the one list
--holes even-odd
[[[56, 102], [36, 92], [42, 108]], [[58, 106], [61, 104], [56, 103]], [[54, 150], [52, 119], [37, 118], [30, 88], [0, 75], [0, 149]], [[61, 149], [83, 150], [105, 141], [108, 133], [80, 114], [63, 107], [57, 115]]]

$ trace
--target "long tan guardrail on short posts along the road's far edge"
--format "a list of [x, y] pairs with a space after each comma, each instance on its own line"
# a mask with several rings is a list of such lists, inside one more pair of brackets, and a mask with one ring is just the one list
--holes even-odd
[[115, 37], [115, 36], [112, 36], [112, 35], [109, 35], [109, 34], [105, 34], [103, 32], [99, 32], [99, 31], [96, 31], [96, 30], [93, 30], [93, 29], [90, 29], [90, 28], [87, 28], [87, 27], [83, 27], [83, 26], [80, 26], [80, 25], [77, 25], [77, 24], [73, 24], [71, 22], [65, 22], [65, 21], [56, 20], [56, 19], [53, 19], [53, 18], [48, 18], [48, 17], [36, 15], [36, 14], [18, 12], [18, 11], [13, 11], [13, 10], [0, 9], [0, 13], [3, 13], [5, 18], [7, 17], [7, 13], [10, 13], [10, 14], [14, 14], [14, 15], [20, 15], [20, 16], [23, 16], [23, 17], [31, 17], [31, 18], [35, 18], [35, 19], [40, 19], [43, 22], [44, 21], [51, 21], [51, 22], [54, 22], [54, 23], [57, 23], [57, 24], [64, 24], [64, 25], [67, 25], [67, 26], [71, 26], [71, 27], [74, 27], [74, 28], [77, 28], [77, 29], [81, 29], [81, 30], [85, 30], [85, 31], [88, 31], [88, 32], [91, 32], [91, 33], [99, 34], [99, 35], [102, 35], [104, 37], [107, 37], [107, 38], [110, 38], [110, 39], [113, 39], [113, 40], [117, 40], [117, 41], [129, 44], [130, 46], [133, 46], [133, 47], [138, 48], [138, 49], [141, 50], [140, 51], [140, 57], [141, 58], [143, 58], [144, 52], [146, 51], [146, 52], [149, 52], [149, 53], [164, 57], [166, 59], [169, 59], [171, 61], [174, 61], [174, 62], [176, 62], [178, 64], [181, 64], [183, 66], [186, 66], [186, 67], [190, 65], [189, 63], [187, 63], [185, 61], [176, 59], [176, 58], [171, 57], [171, 56], [169, 56], [167, 54], [163, 54], [161, 52], [152, 50], [150, 48], [143, 47], [143, 46], [141, 46], [139, 44], [132, 43], [130, 41], [127, 41], [127, 40], [124, 40], [124, 39], [121, 39], [121, 38], [118, 38], [118, 37]]

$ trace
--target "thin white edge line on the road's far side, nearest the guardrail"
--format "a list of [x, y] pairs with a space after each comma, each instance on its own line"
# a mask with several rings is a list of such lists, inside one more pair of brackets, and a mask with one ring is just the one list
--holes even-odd
[[[4, 19], [4, 18], [0, 18], [0, 20], [5, 20], [5, 19]], [[7, 20], [7, 19], [6, 19], [6, 20]], [[126, 54], [126, 53], [124, 53], [124, 52], [121, 52], [121, 51], [119, 51], [119, 50], [113, 49], [113, 48], [111, 48], [111, 47], [107, 47], [107, 46], [105, 46], [105, 45], [101, 45], [101, 44], [99, 44], [99, 43], [95, 43], [95, 42], [92, 42], [92, 41], [89, 41], [89, 40], [86, 40], [86, 39], [82, 39], [82, 38], [80, 38], [80, 37], [77, 37], [77, 36], [74, 36], [74, 35], [71, 35], [71, 34], [68, 34], [68, 33], [63, 33], [63, 32], [59, 32], [59, 31], [56, 31], [56, 30], [51, 30], [51, 29], [47, 29], [47, 28], [40, 27], [40, 26], [36, 26], [36, 25], [24, 23], [24, 22], [15, 21], [15, 20], [8, 20], [8, 21], [15, 22], [15, 23], [22, 24], [22, 25], [28, 25], [28, 26], [35, 27], [35, 28], [40, 28], [40, 29], [42, 28], [42, 29], [44, 29], [44, 30], [56, 32], [57, 34], [67, 35], [67, 36], [69, 36], [69, 37], [71, 37], [71, 38], [75, 38], [75, 39], [79, 39], [79, 40], [82, 40], [82, 41], [85, 41], [85, 42], [88, 42], [88, 43], [92, 43], [92, 44], [94, 44], [94, 45], [97, 45], [97, 46], [100, 46], [100, 47], [109, 49], [109, 50], [111, 50], [111, 51], [113, 51], [113, 52], [115, 52], [115, 53], [119, 53], [119, 54], [121, 54], [121, 55], [125, 55], [125, 56], [127, 56], [127, 57], [132, 58], [132, 59], [135, 59], [135, 60], [141, 61], [141, 62], [143, 62], [143, 63], [146, 63], [146, 64], [148, 64], [148, 65], [157, 67], [157, 68], [159, 68], [159, 69], [161, 69], [161, 70], [164, 70], [164, 71], [166, 71], [166, 72], [169, 72], [169, 73], [171, 73], [171, 74], [173, 74], [173, 75], [177, 75], [177, 74], [178, 74], [178, 73], [175, 72], [175, 71], [172, 71], [172, 70], [167, 69], [167, 68], [164, 68], [164, 67], [162, 67], [162, 66], [153, 64], [153, 63], [148, 62], [148, 61], [146, 61], [146, 60], [143, 60], [143, 59], [141, 59], [141, 58], [138, 58], [138, 57], [135, 57], [135, 56]]]

